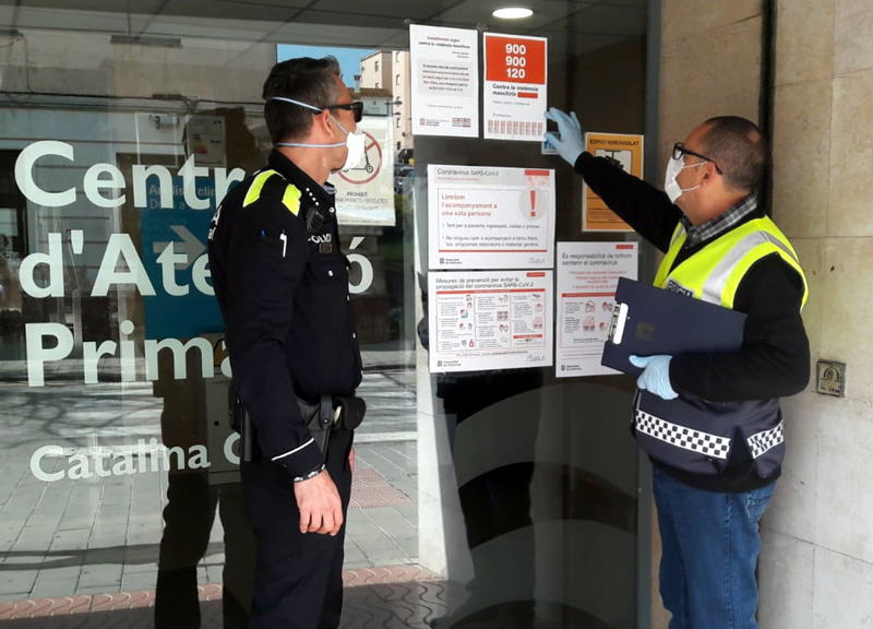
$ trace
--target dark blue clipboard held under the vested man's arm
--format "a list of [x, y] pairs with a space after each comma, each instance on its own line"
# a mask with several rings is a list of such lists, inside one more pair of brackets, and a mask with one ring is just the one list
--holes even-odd
[[631, 355], [733, 352], [744, 325], [743, 312], [620, 277], [600, 364], [637, 376], [643, 370], [631, 365]]

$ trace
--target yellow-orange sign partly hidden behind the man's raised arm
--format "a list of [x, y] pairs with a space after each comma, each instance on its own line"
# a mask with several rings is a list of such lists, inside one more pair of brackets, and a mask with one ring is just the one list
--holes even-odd
[[[643, 178], [643, 135], [586, 133], [585, 150], [595, 157], [615, 159], [625, 173]], [[633, 232], [630, 225], [607, 207], [586, 183], [582, 195], [583, 232]]]

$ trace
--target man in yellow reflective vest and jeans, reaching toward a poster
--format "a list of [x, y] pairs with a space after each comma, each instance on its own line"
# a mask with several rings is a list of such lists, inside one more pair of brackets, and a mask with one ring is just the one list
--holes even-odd
[[634, 432], [654, 463], [670, 629], [757, 629], [758, 521], [785, 456], [779, 397], [802, 391], [808, 288], [791, 244], [757, 203], [757, 127], [711, 118], [673, 146], [665, 190], [585, 152], [575, 114], [547, 139], [585, 182], [665, 253], [655, 284], [746, 313], [737, 352], [633, 357]]

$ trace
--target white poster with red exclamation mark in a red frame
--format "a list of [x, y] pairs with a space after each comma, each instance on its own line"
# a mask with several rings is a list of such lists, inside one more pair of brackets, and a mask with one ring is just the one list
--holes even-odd
[[554, 170], [428, 166], [431, 269], [554, 266]]

